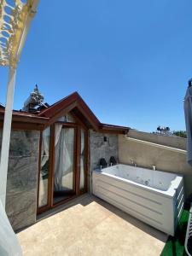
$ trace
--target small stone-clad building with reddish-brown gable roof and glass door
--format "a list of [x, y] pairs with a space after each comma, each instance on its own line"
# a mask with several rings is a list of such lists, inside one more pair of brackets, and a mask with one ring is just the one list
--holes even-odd
[[[0, 106], [0, 142], [4, 108]], [[37, 111], [14, 111], [6, 212], [15, 230], [90, 190], [99, 160], [118, 161], [118, 135], [128, 127], [102, 124], [77, 92]]]

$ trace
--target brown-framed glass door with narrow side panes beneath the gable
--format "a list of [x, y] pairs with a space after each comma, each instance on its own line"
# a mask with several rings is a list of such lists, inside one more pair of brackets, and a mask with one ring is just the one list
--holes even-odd
[[86, 191], [87, 130], [58, 121], [41, 133], [38, 213]]

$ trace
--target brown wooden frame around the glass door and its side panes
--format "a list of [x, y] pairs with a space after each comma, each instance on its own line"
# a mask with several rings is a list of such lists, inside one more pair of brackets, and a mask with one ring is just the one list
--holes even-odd
[[[74, 117], [75, 118], [75, 117]], [[77, 119], [76, 119], [77, 120]], [[75, 188], [75, 195], [71, 195], [67, 199], [59, 201], [54, 204], [53, 202], [53, 192], [54, 192], [54, 166], [55, 166], [55, 124], [62, 124], [63, 127], [74, 128], [74, 148], [73, 148], [73, 184]], [[43, 207], [38, 207], [39, 200], [39, 183], [40, 183], [40, 172], [41, 172], [41, 148], [42, 148], [42, 133], [40, 135], [39, 142], [39, 160], [38, 160], [38, 193], [37, 193], [37, 213], [45, 212], [53, 207], [57, 207], [67, 201], [72, 200], [73, 198], [84, 194], [87, 191], [87, 171], [88, 171], [88, 129], [82, 123], [67, 123], [67, 122], [56, 122], [55, 124], [50, 126], [50, 139], [49, 139], [49, 180], [48, 180], [48, 204]], [[80, 147], [81, 147], [81, 129], [84, 130], [85, 133], [85, 159], [84, 159], [84, 189], [79, 189], [79, 180], [80, 180]]]

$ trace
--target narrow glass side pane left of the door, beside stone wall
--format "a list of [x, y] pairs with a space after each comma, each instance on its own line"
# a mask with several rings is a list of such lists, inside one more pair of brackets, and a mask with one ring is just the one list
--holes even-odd
[[49, 179], [49, 139], [50, 127], [42, 133], [41, 143], [41, 171], [39, 180], [38, 207], [48, 204], [48, 179]]

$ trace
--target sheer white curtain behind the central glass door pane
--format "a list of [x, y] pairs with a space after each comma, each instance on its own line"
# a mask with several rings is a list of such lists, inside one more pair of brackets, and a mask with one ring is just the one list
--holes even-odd
[[73, 189], [74, 129], [55, 125], [55, 191]]

